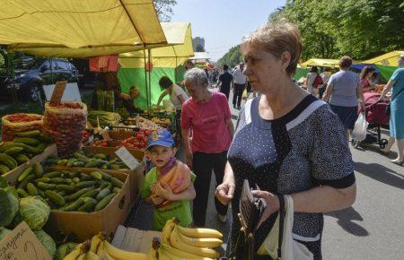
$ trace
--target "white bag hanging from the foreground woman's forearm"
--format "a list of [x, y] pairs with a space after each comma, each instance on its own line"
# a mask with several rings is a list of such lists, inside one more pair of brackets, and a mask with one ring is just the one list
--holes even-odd
[[312, 260], [312, 252], [292, 237], [294, 226], [294, 201], [291, 195], [278, 195], [279, 214], [274, 227], [265, 238], [259, 255], [281, 260]]

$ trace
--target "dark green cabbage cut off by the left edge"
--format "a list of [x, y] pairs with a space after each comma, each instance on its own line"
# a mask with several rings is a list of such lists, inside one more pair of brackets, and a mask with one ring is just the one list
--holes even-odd
[[0, 227], [8, 226], [18, 212], [18, 198], [0, 188]]

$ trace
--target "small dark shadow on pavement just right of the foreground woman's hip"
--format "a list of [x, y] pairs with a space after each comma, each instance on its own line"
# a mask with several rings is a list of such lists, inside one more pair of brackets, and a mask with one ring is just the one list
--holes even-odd
[[356, 237], [369, 236], [369, 232], [367, 230], [365, 230], [362, 226], [354, 222], [354, 221], [363, 221], [364, 219], [359, 214], [359, 212], [356, 212], [356, 210], [353, 207], [349, 207], [345, 210], [338, 212], [328, 212], [324, 214], [338, 219], [337, 221], [338, 225], [342, 229], [346, 230], [348, 233]]

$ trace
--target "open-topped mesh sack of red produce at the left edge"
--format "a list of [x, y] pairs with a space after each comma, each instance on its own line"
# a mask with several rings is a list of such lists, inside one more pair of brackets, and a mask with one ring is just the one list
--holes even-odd
[[2, 117], [2, 140], [12, 141], [15, 133], [32, 130], [42, 131], [42, 116], [18, 113]]

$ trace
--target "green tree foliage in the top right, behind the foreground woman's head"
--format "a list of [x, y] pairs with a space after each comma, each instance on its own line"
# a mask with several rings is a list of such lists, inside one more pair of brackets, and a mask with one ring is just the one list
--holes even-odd
[[269, 15], [299, 27], [302, 59], [365, 59], [404, 48], [402, 0], [288, 0]]

